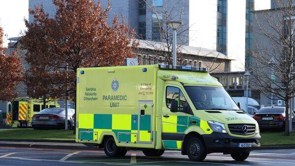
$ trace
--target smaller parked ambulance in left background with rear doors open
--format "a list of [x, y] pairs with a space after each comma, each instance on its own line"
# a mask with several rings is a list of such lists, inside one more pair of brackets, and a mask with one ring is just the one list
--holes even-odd
[[7, 102], [7, 125], [18, 127], [31, 127], [32, 117], [35, 113], [45, 108], [58, 108], [57, 101], [48, 101], [46, 106], [41, 100], [32, 99], [29, 97], [17, 98], [13, 102]]

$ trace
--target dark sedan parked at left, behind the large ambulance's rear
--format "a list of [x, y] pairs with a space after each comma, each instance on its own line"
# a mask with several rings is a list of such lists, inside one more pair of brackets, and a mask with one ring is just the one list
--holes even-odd
[[[70, 120], [74, 114], [74, 109], [68, 109], [68, 128], [71, 128]], [[65, 109], [64, 108], [49, 108], [44, 109], [32, 118], [32, 128], [48, 129], [48, 128], [64, 128], [65, 125]]]

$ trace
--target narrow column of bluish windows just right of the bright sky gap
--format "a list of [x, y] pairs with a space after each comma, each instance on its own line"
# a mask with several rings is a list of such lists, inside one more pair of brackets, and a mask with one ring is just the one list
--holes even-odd
[[246, 0], [246, 36], [245, 36], [245, 67], [250, 68], [251, 49], [253, 43], [253, 14], [254, 0]]

